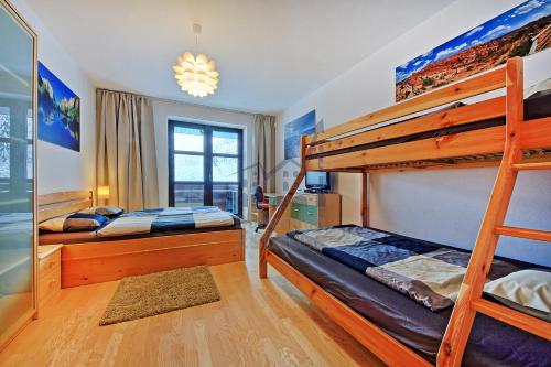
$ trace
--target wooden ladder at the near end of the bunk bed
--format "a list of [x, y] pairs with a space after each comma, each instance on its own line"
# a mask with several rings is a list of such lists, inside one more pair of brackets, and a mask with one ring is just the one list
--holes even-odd
[[504, 225], [519, 171], [551, 170], [551, 162], [522, 162], [522, 61], [509, 60], [506, 72], [506, 142], [494, 190], [478, 231], [457, 301], [439, 350], [439, 366], [461, 366], [476, 313], [551, 339], [551, 324], [482, 298], [499, 236], [551, 241], [551, 231]]

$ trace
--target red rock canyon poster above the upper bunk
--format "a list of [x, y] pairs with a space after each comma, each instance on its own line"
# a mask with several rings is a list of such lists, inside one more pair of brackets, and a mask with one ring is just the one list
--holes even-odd
[[396, 101], [551, 47], [551, 0], [530, 0], [396, 68]]

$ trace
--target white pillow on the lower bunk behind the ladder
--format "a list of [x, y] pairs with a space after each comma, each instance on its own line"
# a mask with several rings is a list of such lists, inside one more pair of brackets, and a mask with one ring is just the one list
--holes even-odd
[[551, 272], [511, 272], [486, 283], [484, 291], [511, 309], [551, 321]]

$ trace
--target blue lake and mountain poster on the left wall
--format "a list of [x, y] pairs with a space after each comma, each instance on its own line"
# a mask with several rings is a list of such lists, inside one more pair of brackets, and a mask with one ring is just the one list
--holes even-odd
[[40, 62], [39, 139], [80, 151], [80, 98]]

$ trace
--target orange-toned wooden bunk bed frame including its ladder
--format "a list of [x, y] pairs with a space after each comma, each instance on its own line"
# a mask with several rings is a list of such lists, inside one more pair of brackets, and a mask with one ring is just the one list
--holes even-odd
[[[400, 123], [377, 125], [464, 98], [506, 88], [506, 96]], [[368, 150], [341, 149], [506, 117], [505, 126], [422, 139]], [[370, 130], [366, 131], [366, 128]], [[357, 131], [363, 129], [361, 131]], [[343, 137], [344, 136], [344, 137]], [[338, 325], [390, 366], [430, 366], [429, 361], [388, 335], [267, 248], [279, 219], [306, 171], [357, 172], [363, 175], [361, 215], [368, 225], [368, 173], [386, 170], [447, 169], [499, 165], [495, 186], [473, 249], [458, 299], [437, 355], [439, 366], [461, 366], [477, 312], [551, 339], [551, 326], [540, 319], [482, 299], [499, 236], [551, 241], [551, 233], [504, 226], [505, 215], [520, 170], [551, 170], [551, 117], [523, 121], [522, 60], [504, 67], [368, 114], [323, 132], [302, 137], [301, 170], [260, 239], [259, 273], [267, 278], [268, 263], [295, 284]], [[527, 152], [531, 153], [528, 156]], [[536, 152], [536, 154], [533, 154]], [[324, 154], [323, 156], [320, 154]], [[533, 156], [536, 155], [536, 156]]]

